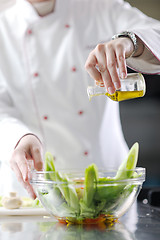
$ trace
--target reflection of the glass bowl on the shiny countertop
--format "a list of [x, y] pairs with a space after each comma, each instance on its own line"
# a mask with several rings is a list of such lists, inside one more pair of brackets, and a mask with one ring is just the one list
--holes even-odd
[[113, 226], [106, 227], [104, 223], [96, 225], [62, 225], [56, 224], [41, 236], [41, 240], [71, 240], [71, 239], [115, 239], [135, 240], [125, 226], [117, 222]]

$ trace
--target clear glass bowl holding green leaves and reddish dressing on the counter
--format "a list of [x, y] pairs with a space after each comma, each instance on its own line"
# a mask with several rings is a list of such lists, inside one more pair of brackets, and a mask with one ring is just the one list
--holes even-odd
[[134, 177], [115, 180], [117, 170], [99, 170], [98, 181], [87, 179], [87, 184], [82, 171], [32, 171], [30, 183], [44, 208], [60, 222], [92, 224], [115, 221], [134, 203], [145, 169], [128, 171]]

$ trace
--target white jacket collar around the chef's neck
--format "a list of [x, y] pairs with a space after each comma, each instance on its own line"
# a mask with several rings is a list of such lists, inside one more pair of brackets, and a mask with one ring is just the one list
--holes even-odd
[[56, 15], [60, 9], [60, 0], [56, 0], [54, 12], [44, 17], [39, 16], [32, 4], [27, 0], [17, 0], [16, 8], [18, 15], [20, 15], [28, 24], [33, 24], [38, 20], [47, 19], [50, 15]]

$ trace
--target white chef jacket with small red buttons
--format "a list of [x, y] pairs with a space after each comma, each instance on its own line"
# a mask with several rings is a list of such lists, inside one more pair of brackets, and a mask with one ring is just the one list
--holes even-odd
[[122, 0], [57, 0], [45, 17], [17, 0], [0, 16], [0, 159], [7, 191], [18, 183], [9, 181], [13, 174], [4, 165], [26, 133], [42, 140], [57, 168], [84, 169], [92, 162], [115, 168], [124, 160], [119, 105], [105, 96], [89, 102], [86, 89], [94, 81], [84, 69], [90, 51], [123, 30], [146, 44], [147, 54], [128, 64], [160, 72], [159, 21]]

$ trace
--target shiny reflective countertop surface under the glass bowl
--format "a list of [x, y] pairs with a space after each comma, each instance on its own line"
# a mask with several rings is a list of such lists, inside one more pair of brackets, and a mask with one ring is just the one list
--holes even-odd
[[0, 217], [2, 240], [159, 240], [160, 211], [148, 204], [138, 203], [114, 224], [66, 225], [49, 216]]

